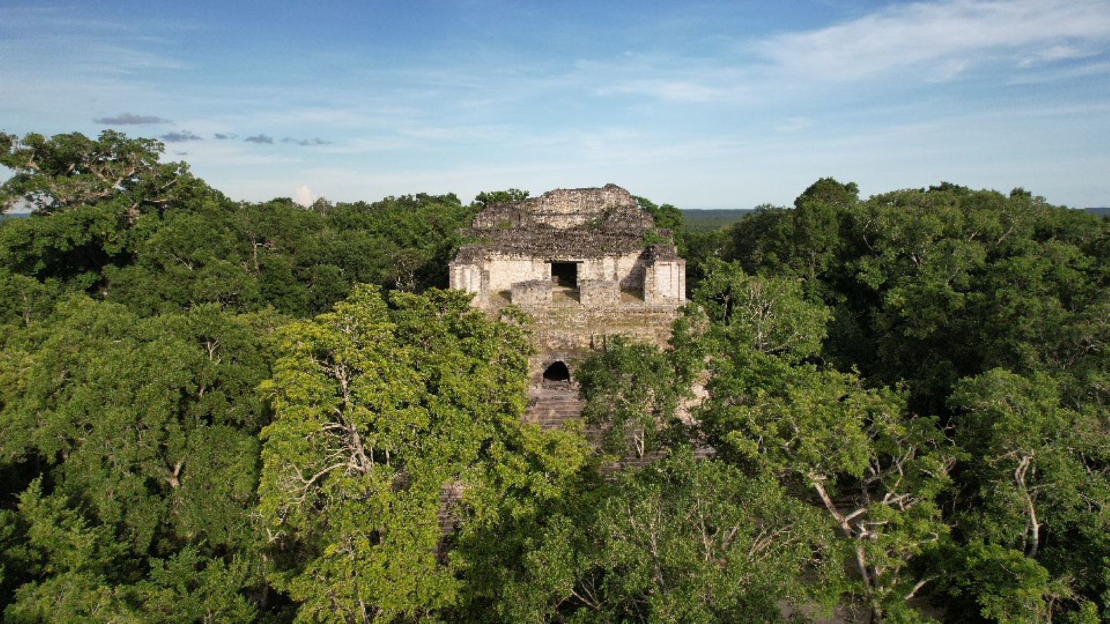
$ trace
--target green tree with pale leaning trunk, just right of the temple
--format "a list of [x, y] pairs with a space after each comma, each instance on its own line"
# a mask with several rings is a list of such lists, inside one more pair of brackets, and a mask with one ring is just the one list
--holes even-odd
[[828, 315], [796, 281], [720, 264], [695, 302], [709, 324], [684, 340], [700, 342], [708, 362], [708, 397], [693, 414], [706, 442], [820, 505], [852, 553], [872, 615], [905, 613], [932, 580], [911, 563], [947, 534], [937, 497], [955, 455], [935, 419], [909, 414], [904, 392], [805, 363]]

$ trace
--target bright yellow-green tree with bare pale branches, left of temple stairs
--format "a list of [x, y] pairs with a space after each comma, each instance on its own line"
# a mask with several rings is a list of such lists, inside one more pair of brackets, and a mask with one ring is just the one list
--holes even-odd
[[290, 325], [282, 351], [264, 386], [271, 582], [303, 618], [431, 617], [457, 604], [466, 562], [451, 554], [448, 519], [490, 521], [491, 501], [559, 473], [525, 459], [546, 444], [521, 423], [524, 333], [464, 293], [386, 301], [360, 286]]

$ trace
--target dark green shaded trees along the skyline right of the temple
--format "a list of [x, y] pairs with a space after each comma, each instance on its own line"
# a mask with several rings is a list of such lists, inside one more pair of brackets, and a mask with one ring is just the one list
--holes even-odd
[[946, 183], [858, 201], [852, 184], [821, 180], [794, 210], [738, 223], [728, 253], [805, 280], [833, 309], [834, 362], [905, 380], [915, 407], [945, 412], [959, 379], [990, 368], [1092, 374], [1107, 361], [1107, 236], [1023, 191]]

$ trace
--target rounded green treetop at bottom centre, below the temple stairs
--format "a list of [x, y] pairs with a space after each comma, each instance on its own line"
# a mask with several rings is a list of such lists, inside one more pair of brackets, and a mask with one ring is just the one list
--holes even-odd
[[836, 595], [829, 526], [774, 482], [680, 454], [597, 496], [548, 520], [502, 618], [773, 622], [784, 604]]

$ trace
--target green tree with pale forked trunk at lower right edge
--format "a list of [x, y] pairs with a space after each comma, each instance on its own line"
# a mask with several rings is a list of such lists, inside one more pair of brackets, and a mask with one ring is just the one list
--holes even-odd
[[[1106, 413], [1068, 409], [1061, 399], [1048, 375], [1000, 369], [961, 380], [951, 397], [956, 440], [976, 460], [963, 469], [975, 490], [958, 526], [972, 552], [1005, 551], [1030, 560], [1012, 565], [1042, 571], [1038, 610], [1046, 613], [1098, 600], [1110, 571]], [[986, 582], [965, 576], [962, 588], [985, 610], [1001, 600]]]

